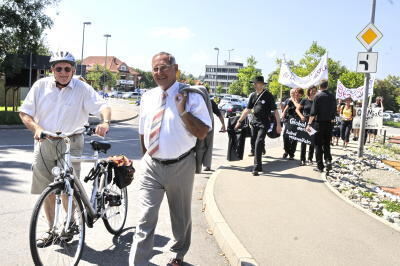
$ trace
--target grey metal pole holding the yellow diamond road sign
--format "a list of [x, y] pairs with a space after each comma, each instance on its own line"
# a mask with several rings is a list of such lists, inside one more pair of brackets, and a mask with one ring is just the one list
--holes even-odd
[[[375, 7], [376, 7], [376, 0], [372, 0], [372, 12], [371, 12], [371, 23], [375, 23]], [[372, 47], [368, 49], [368, 52], [372, 52]], [[367, 137], [365, 132], [365, 120], [367, 118], [367, 111], [368, 111], [368, 92], [369, 92], [369, 80], [371, 75], [369, 73], [365, 74], [365, 81], [364, 81], [364, 95], [363, 95], [363, 103], [362, 103], [362, 111], [361, 111], [361, 124], [360, 124], [360, 135], [358, 139], [358, 152], [357, 156], [362, 157], [364, 153], [364, 138]]]

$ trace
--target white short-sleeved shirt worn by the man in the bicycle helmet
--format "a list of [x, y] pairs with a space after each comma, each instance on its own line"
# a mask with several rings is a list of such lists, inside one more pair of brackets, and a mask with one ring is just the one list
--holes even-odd
[[67, 87], [56, 87], [54, 77], [36, 81], [19, 111], [33, 117], [44, 130], [71, 133], [88, 123], [89, 113], [108, 107], [87, 83], [72, 78]]

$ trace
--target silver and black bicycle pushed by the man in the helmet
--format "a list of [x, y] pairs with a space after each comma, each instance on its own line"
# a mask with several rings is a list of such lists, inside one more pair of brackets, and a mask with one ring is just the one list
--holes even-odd
[[[74, 157], [70, 155], [69, 136], [76, 133], [90, 136], [94, 129], [85, 127], [68, 134], [44, 131], [40, 136], [65, 143], [65, 152], [60, 152], [61, 165], [51, 170], [54, 182], [42, 192], [33, 209], [29, 244], [35, 265], [77, 265], [84, 248], [85, 224], [92, 228], [102, 218], [106, 229], [115, 235], [121, 233], [125, 225], [128, 211], [126, 187], [120, 189], [112, 182], [110, 163], [99, 159], [99, 152], [106, 153], [111, 144], [92, 140], [92, 156]], [[90, 199], [80, 179], [74, 176], [72, 162], [94, 163], [84, 178], [84, 182], [93, 181]], [[48, 202], [54, 202], [53, 219], [49, 219], [49, 208], [52, 208]]]

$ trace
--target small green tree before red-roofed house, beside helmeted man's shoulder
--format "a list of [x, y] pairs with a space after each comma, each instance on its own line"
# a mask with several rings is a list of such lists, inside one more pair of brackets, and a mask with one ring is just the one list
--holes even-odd
[[102, 65], [95, 65], [93, 70], [86, 74], [86, 78], [91, 82], [92, 87], [97, 90], [102, 90], [105, 86], [108, 88], [115, 87], [118, 74], [112, 73], [110, 70], [105, 70]]

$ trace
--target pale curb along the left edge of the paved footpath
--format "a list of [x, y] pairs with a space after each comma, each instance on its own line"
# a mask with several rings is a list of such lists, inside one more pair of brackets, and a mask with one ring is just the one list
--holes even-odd
[[207, 182], [203, 196], [203, 209], [210, 230], [232, 266], [258, 266], [255, 259], [233, 233], [220, 212], [214, 198], [214, 186], [221, 169], [217, 169]]

